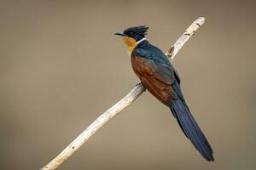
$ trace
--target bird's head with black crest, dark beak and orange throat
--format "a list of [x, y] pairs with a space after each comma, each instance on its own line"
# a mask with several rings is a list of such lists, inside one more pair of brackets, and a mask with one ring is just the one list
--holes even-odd
[[125, 29], [125, 31], [117, 32], [114, 35], [123, 37], [128, 53], [137, 46], [137, 42], [143, 40], [147, 35], [148, 26], [136, 26]]

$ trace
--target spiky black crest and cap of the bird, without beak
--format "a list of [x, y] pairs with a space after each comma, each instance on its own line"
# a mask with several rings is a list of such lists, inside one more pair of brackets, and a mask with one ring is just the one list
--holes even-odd
[[145, 37], [148, 33], [148, 26], [136, 26], [136, 27], [131, 27], [127, 28], [124, 31], [124, 34], [129, 37], [133, 37], [136, 40], [142, 39]]

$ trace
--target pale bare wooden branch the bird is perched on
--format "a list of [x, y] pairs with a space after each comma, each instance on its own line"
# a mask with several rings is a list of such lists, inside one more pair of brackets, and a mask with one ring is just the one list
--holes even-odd
[[[166, 53], [166, 56], [169, 57], [170, 61], [172, 61], [172, 59], [176, 56], [177, 52], [180, 50], [180, 48], [183, 47], [185, 42], [187, 42], [189, 38], [195, 34], [195, 31], [197, 31], [201, 26], [204, 25], [205, 20], [206, 19], [203, 17], [195, 20], [191, 24], [191, 26], [187, 28], [183, 35], [177, 39], [177, 42], [175, 42], [172, 48], [170, 48]], [[116, 116], [120, 111], [123, 111], [125, 107], [130, 105], [135, 99], [143, 94], [144, 91], [145, 88], [143, 87], [143, 85], [141, 83], [137, 84], [137, 86], [133, 88], [131, 92], [125, 96], [125, 98], [121, 99], [118, 103], [108, 109], [108, 111], [105, 111], [101, 116], [99, 116], [95, 122], [91, 123], [90, 126], [87, 127], [83, 133], [81, 133], [76, 139], [74, 139], [73, 142], [69, 144], [67, 148], [62, 150], [61, 153], [56, 156], [52, 161], [50, 161], [48, 165], [42, 167], [41, 170], [52, 170], [59, 167], [61, 163], [66, 161], [69, 156], [72, 156], [75, 151], [79, 150], [79, 148], [88, 139], [90, 139], [90, 137], [94, 133], [96, 133], [97, 130], [99, 130], [104, 124], [110, 121], [113, 116]]]

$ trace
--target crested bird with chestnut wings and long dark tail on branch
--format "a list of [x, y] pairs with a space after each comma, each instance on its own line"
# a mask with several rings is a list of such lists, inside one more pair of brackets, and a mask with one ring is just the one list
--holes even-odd
[[160, 48], [146, 39], [148, 26], [135, 26], [119, 31], [131, 58], [131, 66], [143, 86], [150, 94], [172, 111], [184, 135], [207, 161], [214, 161], [212, 147], [209, 144], [195, 118], [189, 111], [180, 87], [177, 70]]

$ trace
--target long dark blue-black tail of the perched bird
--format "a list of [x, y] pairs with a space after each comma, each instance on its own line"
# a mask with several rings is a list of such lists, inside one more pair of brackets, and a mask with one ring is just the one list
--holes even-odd
[[176, 117], [183, 133], [185, 133], [192, 144], [194, 144], [196, 150], [199, 150], [201, 155], [204, 156], [207, 161], [214, 161], [212, 148], [205, 135], [201, 132], [200, 127], [195, 122], [194, 117], [191, 115], [189, 107], [183, 99], [179, 84], [177, 84], [177, 82], [174, 83], [172, 88], [177, 94], [177, 100], [172, 101], [172, 107], [170, 107], [173, 116]]

